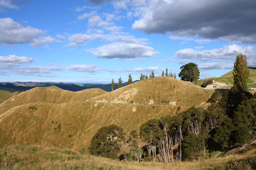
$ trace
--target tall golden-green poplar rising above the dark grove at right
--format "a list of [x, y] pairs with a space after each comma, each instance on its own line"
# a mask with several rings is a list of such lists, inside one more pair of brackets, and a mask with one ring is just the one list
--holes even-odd
[[242, 53], [237, 55], [234, 62], [233, 70], [234, 86], [241, 91], [247, 91], [247, 79], [249, 78], [250, 70], [247, 68], [247, 57]]

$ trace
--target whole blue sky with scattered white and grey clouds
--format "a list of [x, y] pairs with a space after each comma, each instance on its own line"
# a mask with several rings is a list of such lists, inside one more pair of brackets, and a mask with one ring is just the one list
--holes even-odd
[[[256, 66], [255, 0], [0, 0], [0, 82], [111, 83]], [[177, 79], [179, 77], [177, 76]]]

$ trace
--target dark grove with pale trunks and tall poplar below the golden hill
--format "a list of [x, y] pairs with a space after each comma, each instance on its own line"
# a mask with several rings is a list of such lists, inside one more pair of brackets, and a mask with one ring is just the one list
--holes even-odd
[[[247, 92], [246, 56], [234, 63], [234, 86], [228, 92], [215, 91], [208, 109], [189, 108], [176, 116], [151, 119], [142, 124], [139, 135], [129, 135], [116, 126], [104, 126], [94, 135], [90, 154], [125, 160], [172, 162], [207, 157], [208, 152], [228, 151], [255, 141], [256, 95]], [[139, 147], [138, 143], [143, 143]]]

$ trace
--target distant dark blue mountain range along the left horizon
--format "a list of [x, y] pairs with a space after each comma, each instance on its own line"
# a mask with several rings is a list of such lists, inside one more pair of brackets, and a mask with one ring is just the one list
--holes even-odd
[[[137, 82], [135, 80], [134, 82]], [[128, 83], [122, 83], [122, 86], [127, 86]], [[49, 87], [49, 86], [56, 86], [63, 90], [69, 91], [81, 91], [86, 90], [88, 88], [100, 88], [104, 91], [112, 91], [111, 84], [76, 84], [76, 83], [40, 83], [40, 82], [13, 82], [13, 83], [0, 83], [0, 90], [5, 90], [9, 92], [15, 91], [27, 91], [34, 87]], [[118, 88], [118, 84], [115, 83], [115, 89]]]

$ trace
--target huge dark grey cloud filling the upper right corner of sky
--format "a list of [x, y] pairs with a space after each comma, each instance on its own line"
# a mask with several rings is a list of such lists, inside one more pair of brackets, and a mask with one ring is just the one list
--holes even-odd
[[148, 4], [133, 29], [256, 44], [256, 1], [155, 0]]

